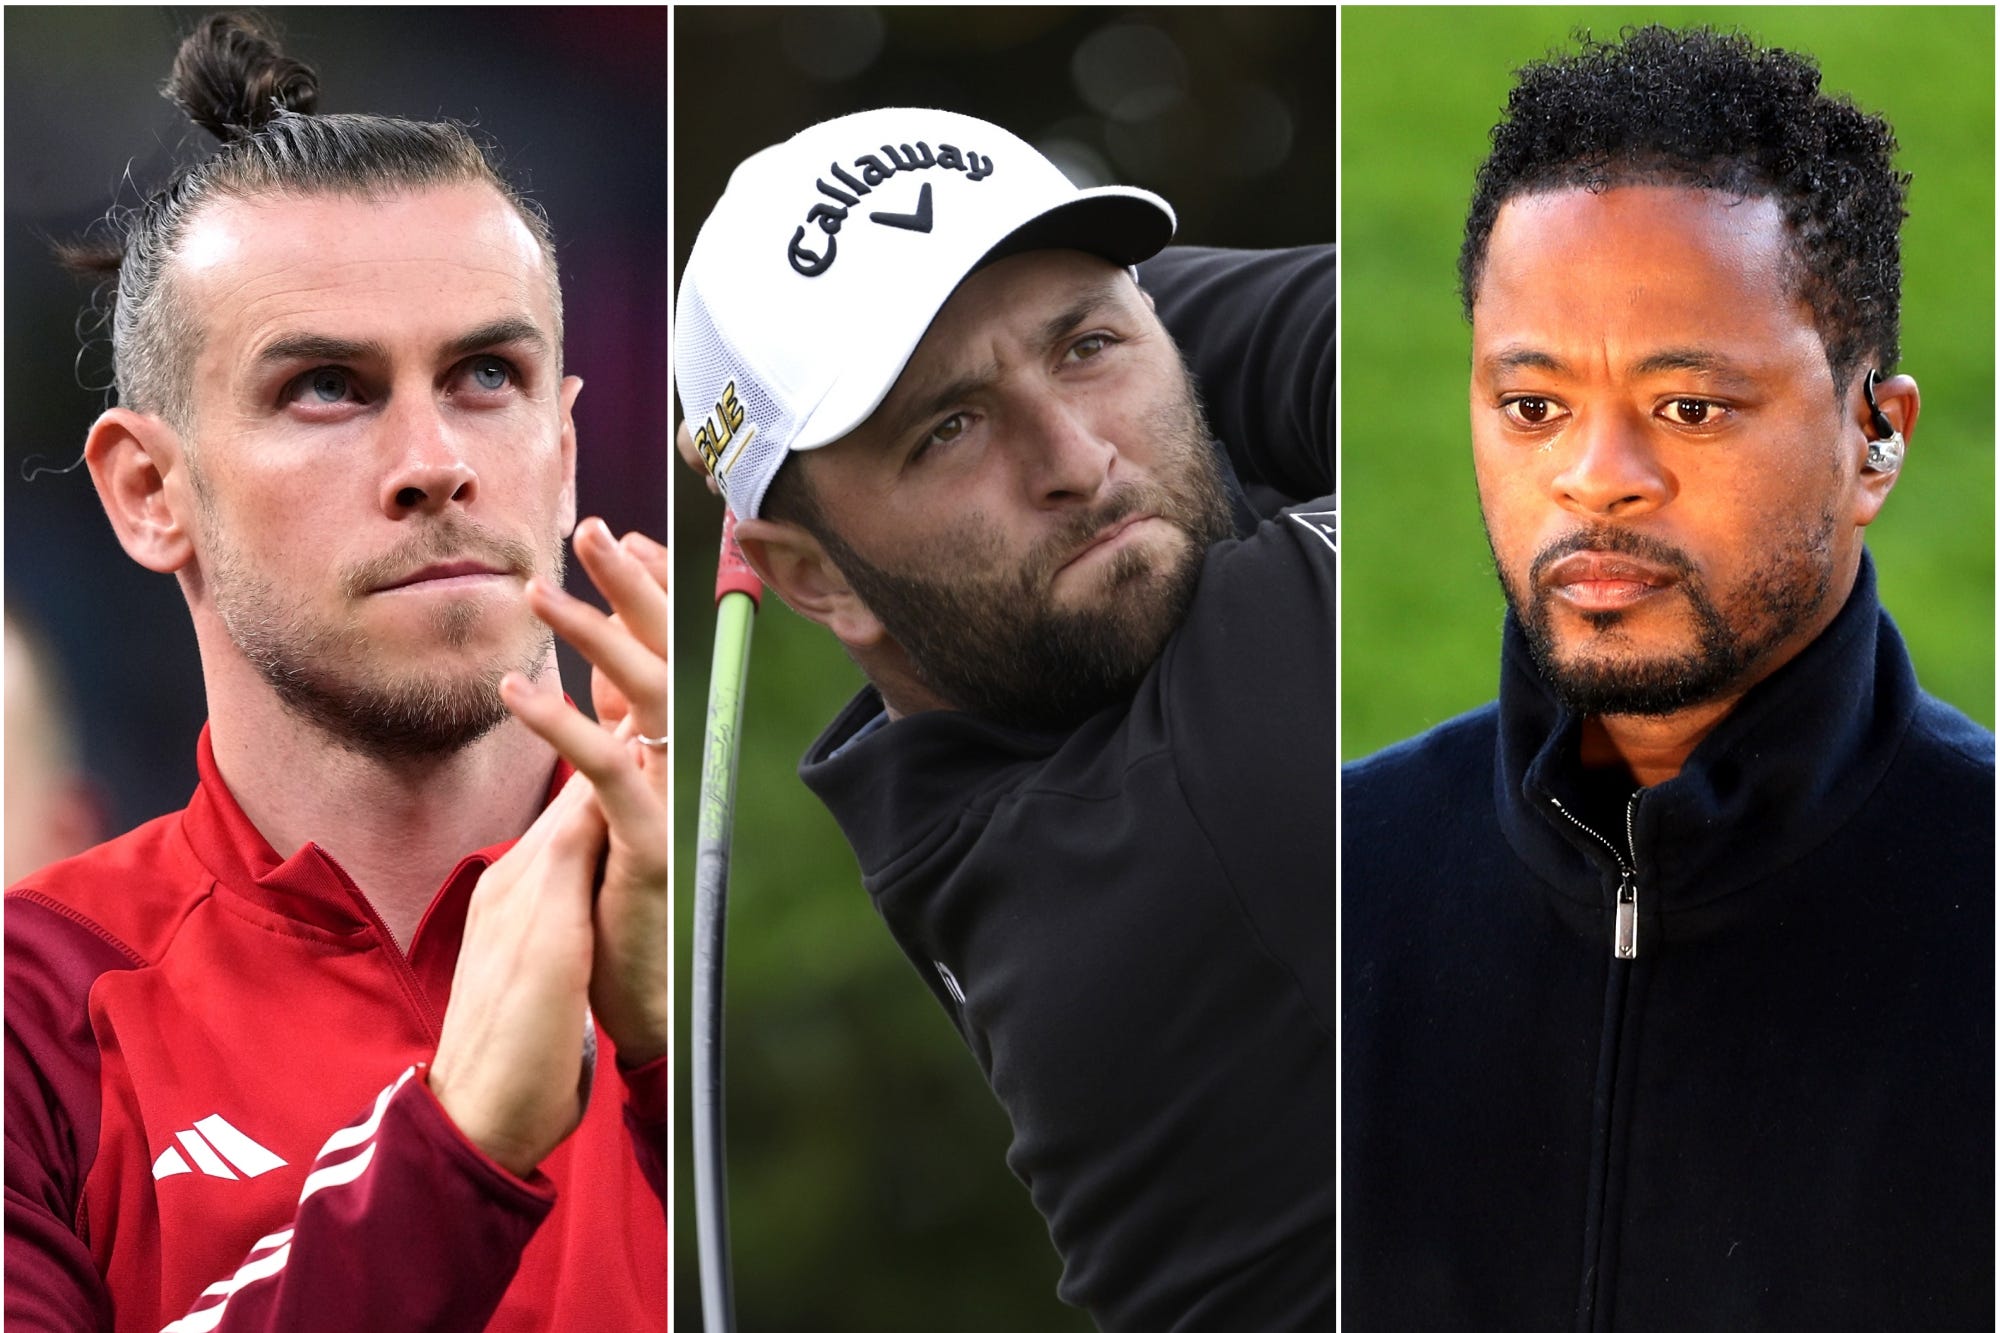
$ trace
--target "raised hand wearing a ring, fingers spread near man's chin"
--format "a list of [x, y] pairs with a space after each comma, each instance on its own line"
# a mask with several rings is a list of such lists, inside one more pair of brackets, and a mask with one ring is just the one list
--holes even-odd
[[536, 578], [528, 606], [590, 660], [592, 723], [560, 695], [518, 691], [508, 707], [590, 779], [610, 855], [594, 909], [590, 1007], [624, 1065], [666, 1055], [668, 927], [664, 747], [666, 546], [640, 532], [612, 540], [600, 518], [576, 526], [576, 554], [614, 614]]

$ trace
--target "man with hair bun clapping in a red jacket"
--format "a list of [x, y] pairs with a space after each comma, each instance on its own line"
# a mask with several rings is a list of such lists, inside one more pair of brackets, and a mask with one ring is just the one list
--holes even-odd
[[184, 811], [8, 893], [8, 1323], [664, 1329], [666, 550], [576, 522], [548, 222], [262, 20], [166, 92], [220, 146], [66, 254], [208, 725]]

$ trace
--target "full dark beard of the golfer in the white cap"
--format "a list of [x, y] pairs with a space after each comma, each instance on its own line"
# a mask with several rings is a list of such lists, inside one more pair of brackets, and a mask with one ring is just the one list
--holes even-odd
[[[1012, 727], [1068, 731], [1138, 687], [1186, 616], [1208, 546], [1234, 530], [1192, 380], [1182, 376], [1152, 426], [1168, 442], [1160, 474], [1074, 514], [1014, 570], [978, 524], [910, 560], [920, 570], [976, 570], [956, 580], [882, 568], [830, 524], [820, 542], [940, 699]], [[1188, 542], [1160, 566], [1146, 552], [1118, 550], [1102, 570], [1100, 602], [1056, 606], [1056, 570], [1106, 524], [1136, 512], [1166, 518]]]

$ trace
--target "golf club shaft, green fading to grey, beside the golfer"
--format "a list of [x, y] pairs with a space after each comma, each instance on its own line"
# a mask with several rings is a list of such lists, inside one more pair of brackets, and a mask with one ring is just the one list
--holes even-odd
[[[760, 582], [736, 548], [734, 520], [724, 518], [716, 560], [716, 646], [708, 675], [708, 723], [702, 731], [700, 821], [694, 851], [694, 967], [690, 995], [690, 1083], [694, 1103], [694, 1241], [702, 1283], [702, 1325], [734, 1333], [730, 1277], [728, 1153], [724, 1143], [722, 997], [728, 927], [730, 837], [736, 825], [744, 679]], [[730, 564], [740, 572], [730, 572]], [[742, 586], [748, 578], [748, 586]], [[728, 586], [726, 586], [728, 584]]]

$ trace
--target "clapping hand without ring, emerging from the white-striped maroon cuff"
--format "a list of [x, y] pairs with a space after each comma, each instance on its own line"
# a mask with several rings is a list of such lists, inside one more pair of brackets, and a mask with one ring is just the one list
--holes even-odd
[[526, 1177], [584, 1119], [590, 885], [604, 817], [572, 779], [472, 893], [430, 1091], [460, 1133]]

